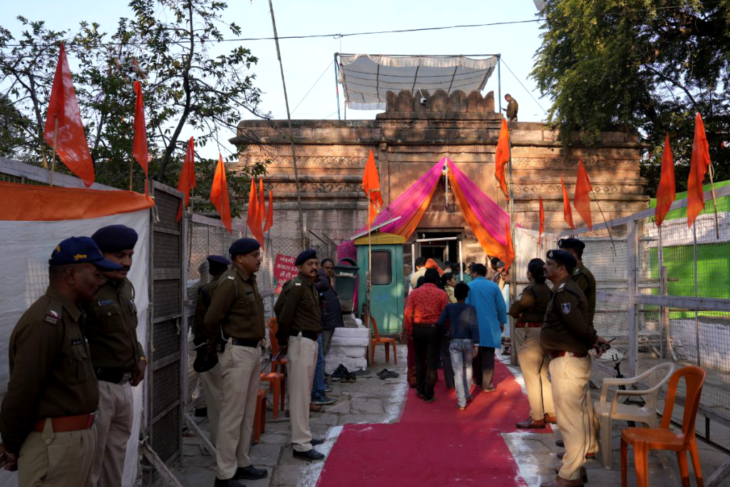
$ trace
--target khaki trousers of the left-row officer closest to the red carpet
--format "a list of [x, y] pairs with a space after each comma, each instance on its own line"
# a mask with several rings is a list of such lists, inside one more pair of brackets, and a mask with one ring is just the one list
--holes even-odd
[[312, 449], [310, 399], [317, 365], [317, 347], [315, 340], [304, 338], [301, 333], [297, 337], [289, 337], [286, 364], [287, 392], [291, 442], [296, 451]]

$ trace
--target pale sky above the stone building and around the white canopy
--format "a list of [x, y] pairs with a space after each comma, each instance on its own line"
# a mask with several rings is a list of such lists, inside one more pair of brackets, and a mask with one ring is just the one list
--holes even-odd
[[[273, 0], [279, 36], [388, 31], [404, 28], [455, 26], [473, 23], [495, 23], [531, 20], [537, 15], [533, 0], [452, 0], [450, 2], [373, 0], [365, 3], [330, 0]], [[125, 0], [74, 0], [74, 8], [55, 0], [7, 2], [0, 24], [19, 34], [23, 15], [30, 20], [45, 20], [55, 30], [76, 30], [82, 20], [101, 24], [101, 30], [112, 32], [120, 17], [131, 16]], [[506, 7], [509, 4], [509, 7]], [[228, 0], [224, 20], [242, 28], [242, 36], [272, 37], [272, 20], [266, 0]], [[231, 39], [230, 31], [224, 34]], [[276, 47], [272, 40], [224, 42], [212, 52], [244, 45], [258, 57], [253, 66], [255, 85], [264, 92], [261, 111], [271, 112], [276, 119], [286, 118]], [[539, 23], [507, 26], [453, 28], [440, 31], [399, 34], [373, 34], [355, 37], [317, 39], [281, 39], [280, 48], [287, 83], [289, 107], [293, 119], [337, 119], [334, 53], [369, 54], [442, 54], [502, 55], [502, 96], [510, 93], [520, 104], [520, 121], [545, 120], [549, 99], [540, 99], [539, 91], [529, 78], [534, 53], [540, 46]], [[73, 60], [69, 60], [73, 69]], [[510, 72], [510, 69], [514, 75]], [[321, 78], [320, 78], [321, 76]], [[319, 78], [319, 81], [317, 82]], [[520, 85], [520, 81], [526, 88]], [[311, 89], [311, 91], [310, 91]], [[488, 81], [485, 91], [497, 95], [497, 73]], [[307, 92], [310, 93], [307, 95]], [[306, 97], [305, 97], [306, 96]], [[344, 115], [342, 91], [340, 104]], [[535, 101], [534, 99], [537, 99]], [[540, 107], [542, 105], [542, 108]], [[504, 106], [504, 104], [503, 104]], [[374, 118], [377, 111], [347, 110], [348, 119]], [[242, 119], [253, 118], [242, 112]], [[223, 135], [223, 134], [221, 134]], [[228, 139], [233, 133], [221, 139]], [[185, 138], [185, 137], [183, 137]], [[208, 150], [215, 149], [209, 147]], [[204, 154], [214, 157], [215, 155]]]

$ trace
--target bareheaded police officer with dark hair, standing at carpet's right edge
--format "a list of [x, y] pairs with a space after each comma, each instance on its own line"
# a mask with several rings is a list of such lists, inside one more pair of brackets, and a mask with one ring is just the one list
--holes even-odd
[[510, 315], [517, 318], [515, 348], [530, 402], [530, 417], [517, 423], [518, 428], [545, 428], [545, 423], [556, 422], [553, 388], [548, 380], [550, 359], [540, 346], [540, 329], [550, 302], [544, 265], [541, 258], [529, 262], [527, 279], [530, 283], [510, 307]]

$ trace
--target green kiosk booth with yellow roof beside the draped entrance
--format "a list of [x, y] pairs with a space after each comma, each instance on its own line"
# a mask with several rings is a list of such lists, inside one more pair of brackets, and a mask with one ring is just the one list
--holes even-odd
[[403, 245], [400, 235], [374, 231], [355, 239], [358, 251], [358, 315], [365, 302], [366, 273], [369, 269], [368, 246], [372, 245], [372, 289], [370, 310], [381, 334], [399, 334], [403, 327], [404, 275]]

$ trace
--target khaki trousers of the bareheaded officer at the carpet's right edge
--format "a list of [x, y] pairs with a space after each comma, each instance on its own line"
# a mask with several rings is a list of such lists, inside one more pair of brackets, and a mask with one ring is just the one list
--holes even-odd
[[555, 415], [553, 388], [548, 380], [550, 357], [540, 346], [540, 329], [515, 329], [514, 340], [522, 376], [525, 378], [527, 400], [530, 402], [530, 417], [540, 421], [545, 418], [545, 414]]

